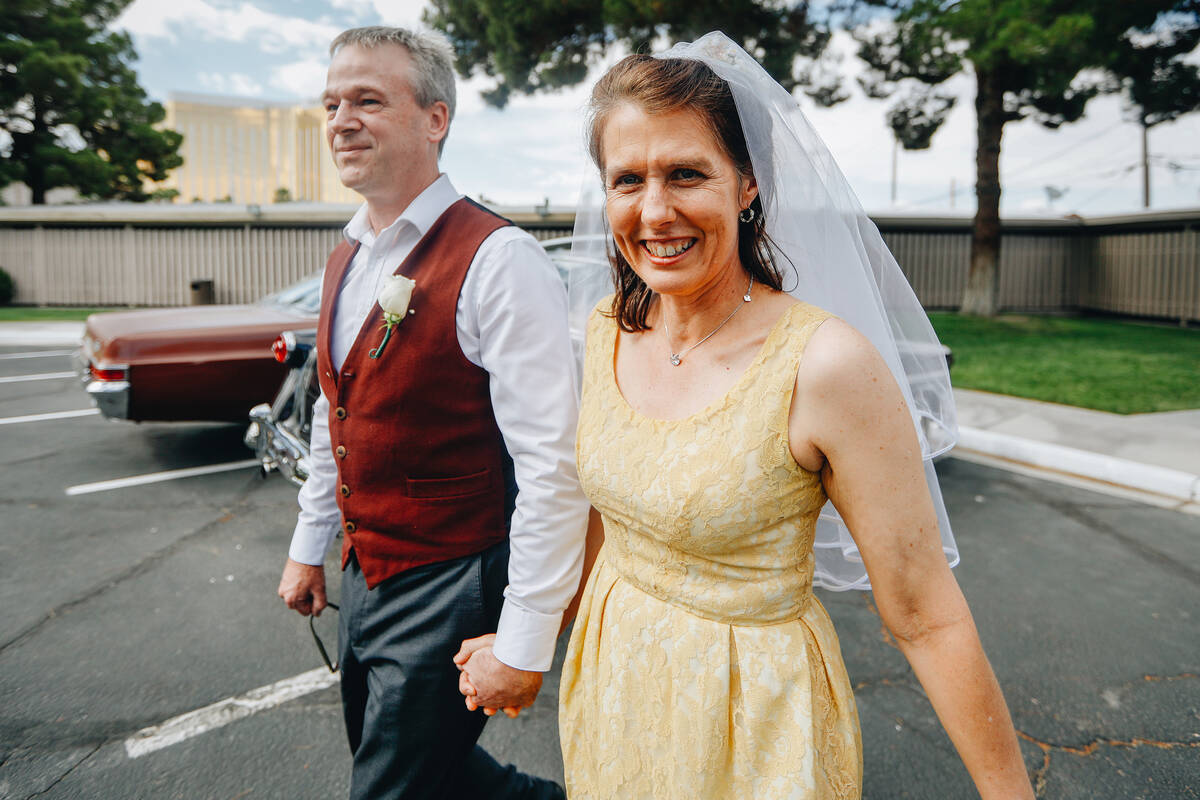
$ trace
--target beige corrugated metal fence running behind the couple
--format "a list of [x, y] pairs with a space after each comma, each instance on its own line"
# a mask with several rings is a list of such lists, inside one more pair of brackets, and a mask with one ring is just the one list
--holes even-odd
[[[0, 266], [16, 302], [172, 306], [193, 281], [217, 302], [251, 302], [320, 270], [352, 209], [72, 206], [0, 209]], [[500, 210], [539, 239], [571, 215]], [[967, 219], [878, 217], [926, 308], [955, 308], [966, 285]], [[1200, 210], [1097, 219], [1006, 221], [1000, 305], [1200, 320]]]

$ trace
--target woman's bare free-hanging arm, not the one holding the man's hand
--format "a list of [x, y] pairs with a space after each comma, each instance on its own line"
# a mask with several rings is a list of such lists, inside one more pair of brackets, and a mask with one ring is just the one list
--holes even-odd
[[822, 482], [863, 555], [895, 637], [985, 800], [1032, 798], [1016, 733], [942, 553], [917, 434], [883, 359], [824, 323], [797, 375], [792, 452]]

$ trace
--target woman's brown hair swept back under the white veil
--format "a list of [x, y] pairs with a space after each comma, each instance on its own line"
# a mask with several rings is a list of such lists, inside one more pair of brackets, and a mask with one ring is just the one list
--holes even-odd
[[[698, 114], [738, 172], [748, 178], [754, 175], [742, 120], [728, 84], [701, 61], [656, 59], [649, 55], [622, 59], [592, 90], [588, 152], [601, 175], [604, 154], [600, 140], [605, 125], [612, 110], [625, 103], [637, 106], [648, 114], [677, 110]], [[761, 197], [755, 197], [750, 207], [754, 210], [754, 218], [750, 222], [738, 219], [738, 258], [742, 267], [758, 283], [781, 289], [782, 277], [770, 257]], [[612, 315], [623, 331], [634, 333], [647, 330], [646, 317], [654, 293], [619, 249], [616, 249], [610, 263], [617, 288]]]

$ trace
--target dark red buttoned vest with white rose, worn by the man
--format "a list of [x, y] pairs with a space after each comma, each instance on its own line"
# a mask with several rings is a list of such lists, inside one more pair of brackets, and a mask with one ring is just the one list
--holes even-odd
[[416, 282], [413, 313], [371, 359], [383, 338], [376, 303], [336, 374], [330, 329], [356, 248], [338, 245], [325, 265], [317, 366], [337, 463], [342, 569], [353, 549], [368, 588], [508, 536], [506, 452], [488, 375], [462, 354], [455, 325], [467, 267], [506, 224], [470, 200], [451, 205], [395, 270]]

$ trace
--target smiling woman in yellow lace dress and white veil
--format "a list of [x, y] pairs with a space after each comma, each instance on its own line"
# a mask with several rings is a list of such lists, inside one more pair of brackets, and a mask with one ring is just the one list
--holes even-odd
[[[980, 795], [1032, 796], [926, 480], [936, 426], [914, 417], [953, 416], [944, 367], [910, 383], [928, 366], [896, 319], [911, 290], [740, 48], [709, 35], [666, 56], [625, 59], [592, 97], [617, 291], [587, 331], [577, 453], [604, 545], [563, 672], [569, 794], [859, 796], [854, 700], [812, 596], [828, 499], [853, 546], [817, 575], [865, 565]], [[815, 199], [785, 200], [797, 182]]]

